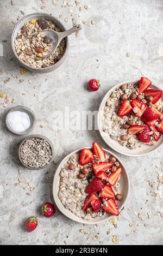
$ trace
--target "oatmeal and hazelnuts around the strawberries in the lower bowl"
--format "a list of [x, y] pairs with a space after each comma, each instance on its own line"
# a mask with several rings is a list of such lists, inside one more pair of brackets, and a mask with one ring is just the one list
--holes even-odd
[[[92, 163], [88, 163], [83, 166], [79, 164], [80, 152], [77, 152], [70, 157], [67, 163], [62, 166], [60, 171], [59, 199], [61, 200], [62, 205], [64, 205], [66, 209], [74, 213], [74, 215], [86, 220], [89, 220], [90, 218], [102, 217], [105, 214], [102, 205], [107, 205], [108, 198], [101, 198], [103, 189], [100, 192], [98, 190], [98, 192], [96, 192], [95, 194], [93, 193], [93, 195], [95, 195], [95, 198], [97, 197], [97, 200], [100, 200], [100, 206], [98, 211], [93, 211], [94, 208], [92, 209], [90, 205], [85, 210], [83, 210], [86, 198], [89, 197], [89, 193], [85, 193], [85, 189], [89, 186], [89, 184], [92, 183], [92, 181], [95, 180], [102, 182], [102, 187], [106, 186], [110, 187], [111, 189], [107, 177], [109, 177], [109, 174], [113, 173], [114, 171], [116, 173], [116, 170], [118, 169], [118, 167], [120, 167], [120, 163], [118, 163], [113, 157], [112, 159], [115, 161], [115, 163], [112, 163], [111, 169], [107, 170], [106, 180], [103, 180], [103, 178], [100, 180], [100, 178], [97, 178], [98, 175], [96, 176], [95, 172], [93, 172], [92, 170], [93, 163], [96, 165], [98, 165], [99, 163], [97, 162], [96, 156], [94, 157], [95, 158], [93, 159]], [[111, 163], [109, 162], [110, 159], [111, 156], [105, 155], [105, 162], [103, 163]], [[118, 180], [119, 178], [120, 175], [118, 176]], [[122, 192], [118, 180], [115, 186], [112, 186], [112, 190], [115, 193], [112, 197], [116, 197], [117, 200], [121, 200]]]

